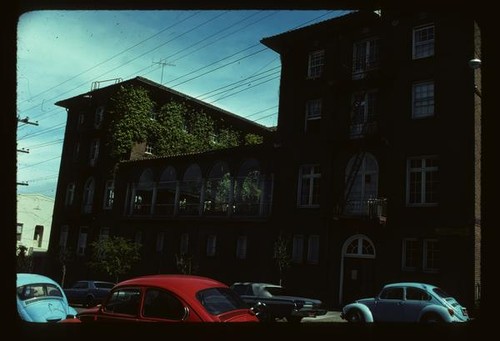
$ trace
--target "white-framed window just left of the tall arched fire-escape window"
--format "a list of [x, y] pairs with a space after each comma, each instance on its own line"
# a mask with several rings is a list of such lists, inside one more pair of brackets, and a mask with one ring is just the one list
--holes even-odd
[[321, 180], [320, 165], [302, 165], [299, 169], [299, 207], [318, 207]]

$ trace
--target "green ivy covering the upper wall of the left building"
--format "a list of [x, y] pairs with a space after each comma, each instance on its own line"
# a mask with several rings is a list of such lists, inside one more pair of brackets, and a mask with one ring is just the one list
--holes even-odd
[[135, 144], [147, 143], [155, 156], [204, 152], [249, 144], [263, 137], [244, 133], [188, 102], [171, 100], [158, 108], [149, 92], [121, 86], [111, 98], [108, 147], [123, 159]]

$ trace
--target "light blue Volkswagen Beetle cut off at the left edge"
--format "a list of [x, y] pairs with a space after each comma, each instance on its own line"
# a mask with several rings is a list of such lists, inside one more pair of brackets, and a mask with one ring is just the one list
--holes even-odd
[[76, 316], [62, 288], [49, 277], [18, 273], [17, 312], [27, 322], [58, 322]]

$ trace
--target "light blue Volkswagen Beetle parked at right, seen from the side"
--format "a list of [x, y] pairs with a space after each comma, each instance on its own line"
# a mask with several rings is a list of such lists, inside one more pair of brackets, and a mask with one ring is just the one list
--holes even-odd
[[344, 306], [348, 322], [466, 322], [467, 309], [442, 289], [425, 283], [385, 285], [378, 296]]

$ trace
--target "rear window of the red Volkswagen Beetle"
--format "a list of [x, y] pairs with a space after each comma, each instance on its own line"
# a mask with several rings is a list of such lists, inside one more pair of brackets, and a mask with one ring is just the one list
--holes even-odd
[[212, 315], [222, 314], [236, 309], [247, 309], [243, 300], [229, 288], [210, 288], [201, 290], [196, 298]]

